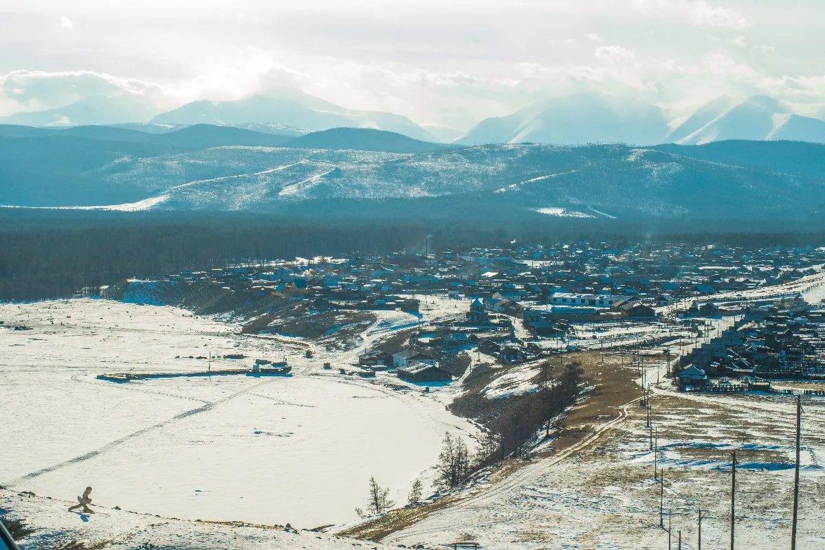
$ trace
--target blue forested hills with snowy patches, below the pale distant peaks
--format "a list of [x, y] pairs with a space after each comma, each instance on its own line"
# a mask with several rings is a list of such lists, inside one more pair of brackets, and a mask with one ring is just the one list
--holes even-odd
[[292, 137], [208, 124], [0, 125], [9, 207], [817, 221], [823, 181], [825, 145], [800, 142], [448, 147], [369, 128]]

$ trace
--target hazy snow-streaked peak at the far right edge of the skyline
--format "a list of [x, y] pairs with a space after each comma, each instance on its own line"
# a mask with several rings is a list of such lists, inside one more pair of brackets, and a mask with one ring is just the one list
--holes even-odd
[[665, 141], [693, 145], [728, 139], [825, 142], [825, 122], [792, 114], [768, 96], [723, 96], [696, 110]]

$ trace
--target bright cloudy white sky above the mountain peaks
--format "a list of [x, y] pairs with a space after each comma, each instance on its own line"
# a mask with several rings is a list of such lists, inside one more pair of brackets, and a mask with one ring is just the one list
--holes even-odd
[[825, 110], [822, 0], [2, 0], [0, 116], [299, 88], [461, 130], [582, 91]]

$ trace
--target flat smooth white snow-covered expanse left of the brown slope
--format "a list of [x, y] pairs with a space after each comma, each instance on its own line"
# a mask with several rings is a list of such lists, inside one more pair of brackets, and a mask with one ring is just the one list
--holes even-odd
[[[388, 312], [367, 338], [411, 319]], [[474, 433], [438, 389], [322, 370], [355, 352], [306, 359], [299, 342], [241, 335], [184, 310], [50, 301], [0, 305], [0, 320], [0, 485], [17, 491], [72, 500], [91, 485], [101, 506], [310, 528], [352, 520], [370, 475], [403, 503], [415, 478], [427, 485], [445, 431]], [[294, 375], [95, 379], [205, 371], [196, 357], [210, 353], [247, 356], [212, 361], [213, 370], [286, 357]]]

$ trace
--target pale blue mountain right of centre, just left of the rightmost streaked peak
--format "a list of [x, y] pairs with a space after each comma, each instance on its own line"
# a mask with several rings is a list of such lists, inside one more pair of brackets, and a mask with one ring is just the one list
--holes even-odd
[[661, 143], [667, 131], [657, 106], [591, 93], [546, 100], [505, 117], [485, 119], [456, 142], [651, 145]]

